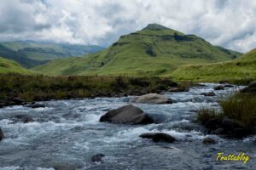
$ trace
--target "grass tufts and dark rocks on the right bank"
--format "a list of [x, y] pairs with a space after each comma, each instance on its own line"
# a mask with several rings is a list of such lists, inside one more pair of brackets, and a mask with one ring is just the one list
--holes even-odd
[[221, 110], [203, 107], [198, 112], [197, 121], [212, 133], [242, 138], [256, 133], [256, 95], [232, 94], [221, 99]]

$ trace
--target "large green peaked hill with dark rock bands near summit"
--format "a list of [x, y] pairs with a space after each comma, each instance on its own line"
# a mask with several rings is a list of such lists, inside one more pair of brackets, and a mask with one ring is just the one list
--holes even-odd
[[82, 58], [56, 59], [33, 68], [48, 75], [168, 75], [180, 65], [214, 63], [241, 54], [201, 37], [150, 24], [121, 36], [109, 48]]

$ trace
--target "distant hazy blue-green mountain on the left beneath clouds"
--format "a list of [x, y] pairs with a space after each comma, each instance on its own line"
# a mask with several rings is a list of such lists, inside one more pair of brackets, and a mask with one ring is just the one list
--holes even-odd
[[43, 65], [51, 59], [95, 53], [103, 48], [95, 45], [72, 45], [67, 43], [16, 41], [0, 42], [0, 55], [14, 59], [20, 65], [33, 67]]

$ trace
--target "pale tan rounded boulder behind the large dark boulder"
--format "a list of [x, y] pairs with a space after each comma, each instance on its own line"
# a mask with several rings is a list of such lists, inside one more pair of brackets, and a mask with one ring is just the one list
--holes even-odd
[[144, 104], [172, 104], [172, 99], [168, 99], [166, 96], [160, 94], [145, 94], [136, 99], [132, 99], [132, 102]]

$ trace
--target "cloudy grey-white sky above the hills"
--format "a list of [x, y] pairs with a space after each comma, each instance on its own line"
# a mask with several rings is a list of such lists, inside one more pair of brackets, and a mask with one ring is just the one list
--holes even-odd
[[256, 48], [253, 0], [0, 0], [0, 41], [98, 44], [158, 23], [225, 48]]

